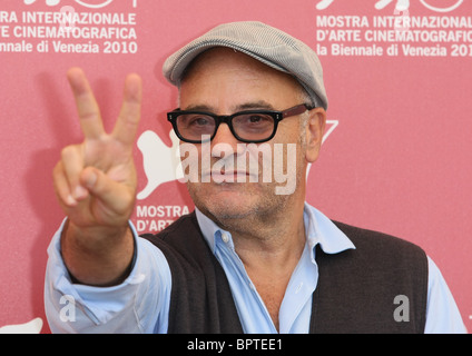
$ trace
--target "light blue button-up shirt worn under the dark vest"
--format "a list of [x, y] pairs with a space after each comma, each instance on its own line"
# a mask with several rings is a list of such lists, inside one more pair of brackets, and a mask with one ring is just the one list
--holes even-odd
[[[234, 249], [230, 233], [196, 209], [198, 224], [229, 281], [245, 333], [272, 334], [277, 329]], [[326, 254], [355, 249], [353, 243], [321, 211], [305, 205], [306, 244], [292, 274], [279, 309], [279, 333], [306, 334], [318, 268], [315, 246]], [[48, 248], [45, 307], [53, 333], [166, 333], [171, 277], [163, 253], [146, 239], [136, 240], [136, 261], [128, 278], [114, 287], [72, 284], [60, 254], [63, 224]], [[392, 300], [393, 305], [393, 300]], [[393, 308], [392, 308], [393, 309]], [[392, 318], [393, 318], [392, 313]], [[466, 333], [461, 315], [436, 265], [429, 258], [425, 333]]]

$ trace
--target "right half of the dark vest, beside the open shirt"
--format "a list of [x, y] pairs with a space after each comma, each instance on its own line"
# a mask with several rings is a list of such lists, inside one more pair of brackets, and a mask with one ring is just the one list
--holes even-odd
[[[316, 250], [319, 333], [423, 333], [427, 257], [402, 238], [333, 221], [355, 249]], [[409, 300], [409, 322], [395, 319], [396, 298]], [[402, 299], [403, 300], [403, 299]], [[316, 324], [316, 323], [315, 323]]]

